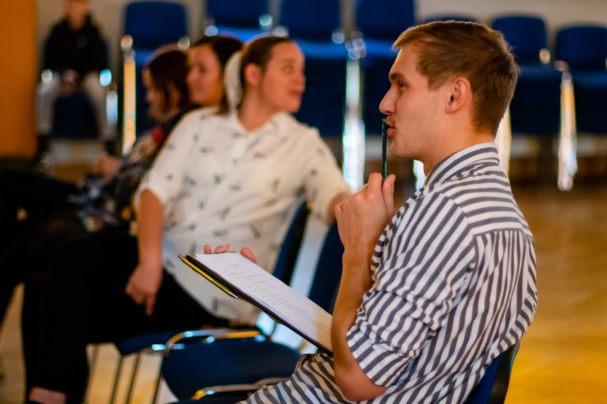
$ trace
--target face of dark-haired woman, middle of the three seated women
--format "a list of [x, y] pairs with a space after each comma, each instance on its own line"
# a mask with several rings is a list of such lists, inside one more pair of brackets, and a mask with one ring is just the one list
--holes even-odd
[[211, 45], [190, 50], [188, 61], [190, 69], [186, 82], [190, 101], [202, 107], [219, 106], [223, 96], [223, 73]]

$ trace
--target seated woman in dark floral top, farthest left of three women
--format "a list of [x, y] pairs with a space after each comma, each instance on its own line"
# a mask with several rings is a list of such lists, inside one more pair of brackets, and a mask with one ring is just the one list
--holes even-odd
[[[41, 268], [56, 246], [104, 226], [128, 229], [130, 208], [141, 175], [149, 169], [166, 135], [190, 109], [186, 55], [168, 50], [144, 70], [146, 99], [158, 127], [144, 135], [124, 158], [104, 155], [84, 186], [38, 173], [0, 173], [0, 322], [13, 288], [25, 281], [24, 317], [38, 306]], [[24, 261], [22, 257], [29, 257]]]

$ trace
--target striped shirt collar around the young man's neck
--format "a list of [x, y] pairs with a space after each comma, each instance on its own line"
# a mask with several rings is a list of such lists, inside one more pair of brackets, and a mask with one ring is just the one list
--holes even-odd
[[466, 149], [459, 150], [459, 152], [455, 152], [449, 157], [444, 158], [430, 170], [426, 177], [426, 181], [424, 182], [424, 186], [448, 180], [467, 166], [484, 160], [490, 160], [497, 164], [500, 163], [495, 143], [475, 144], [474, 146], [466, 147]]

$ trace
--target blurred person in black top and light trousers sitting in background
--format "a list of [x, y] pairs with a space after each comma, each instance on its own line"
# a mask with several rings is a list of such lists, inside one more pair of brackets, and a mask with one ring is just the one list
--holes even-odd
[[107, 126], [106, 90], [100, 82], [100, 72], [107, 69], [107, 50], [91, 21], [89, 0], [64, 1], [64, 19], [44, 45], [43, 69], [36, 100], [42, 148], [53, 131], [56, 99], [80, 91], [95, 110], [100, 138], [114, 136]]

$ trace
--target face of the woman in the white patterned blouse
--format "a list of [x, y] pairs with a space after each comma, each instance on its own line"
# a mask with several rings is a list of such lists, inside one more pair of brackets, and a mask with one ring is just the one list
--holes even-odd
[[274, 110], [297, 112], [305, 90], [304, 53], [294, 42], [274, 45], [260, 81], [261, 95]]

